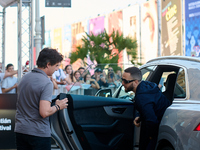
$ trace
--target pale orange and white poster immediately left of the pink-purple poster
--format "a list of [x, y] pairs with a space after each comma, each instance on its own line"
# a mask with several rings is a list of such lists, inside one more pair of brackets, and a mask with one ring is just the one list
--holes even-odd
[[76, 51], [76, 47], [82, 45], [82, 37], [85, 36], [85, 32], [89, 31], [89, 20], [74, 23], [71, 26], [72, 34], [72, 51]]

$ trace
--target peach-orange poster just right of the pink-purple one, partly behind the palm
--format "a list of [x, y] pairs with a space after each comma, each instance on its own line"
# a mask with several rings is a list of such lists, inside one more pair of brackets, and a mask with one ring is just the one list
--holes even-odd
[[[122, 34], [122, 11], [116, 11], [108, 14], [108, 34], [112, 34], [113, 30]], [[112, 53], [118, 54], [119, 52], [117, 49], [113, 49]], [[121, 51], [118, 55], [118, 63], [123, 64], [123, 51]]]

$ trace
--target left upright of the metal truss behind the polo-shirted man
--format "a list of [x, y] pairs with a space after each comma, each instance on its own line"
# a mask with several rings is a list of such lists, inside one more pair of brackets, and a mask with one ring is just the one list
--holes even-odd
[[22, 31], [21, 31], [21, 18], [22, 18], [22, 0], [18, 0], [18, 81], [22, 77]]

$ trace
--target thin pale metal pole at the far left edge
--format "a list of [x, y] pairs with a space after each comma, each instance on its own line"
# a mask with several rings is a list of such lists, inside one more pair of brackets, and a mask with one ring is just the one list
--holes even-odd
[[2, 71], [5, 72], [5, 23], [6, 23], [6, 8], [3, 8], [2, 22]]

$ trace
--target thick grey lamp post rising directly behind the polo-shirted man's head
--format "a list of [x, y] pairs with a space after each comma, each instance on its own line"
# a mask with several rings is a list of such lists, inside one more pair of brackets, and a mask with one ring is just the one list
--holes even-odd
[[35, 48], [36, 48], [36, 60], [41, 50], [41, 22], [40, 22], [40, 7], [39, 0], [35, 0]]

